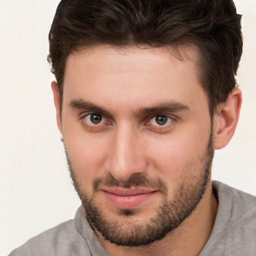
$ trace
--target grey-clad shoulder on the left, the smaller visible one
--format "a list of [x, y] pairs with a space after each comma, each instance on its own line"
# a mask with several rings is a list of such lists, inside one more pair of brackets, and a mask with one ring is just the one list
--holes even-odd
[[32, 237], [9, 254], [9, 256], [17, 255], [78, 256], [91, 254], [86, 241], [76, 230], [72, 219]]

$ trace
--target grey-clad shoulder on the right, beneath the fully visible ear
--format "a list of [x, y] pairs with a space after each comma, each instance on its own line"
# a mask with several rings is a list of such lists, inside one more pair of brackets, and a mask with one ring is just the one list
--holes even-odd
[[200, 256], [256, 255], [256, 197], [218, 181], [213, 181], [212, 187], [218, 210]]

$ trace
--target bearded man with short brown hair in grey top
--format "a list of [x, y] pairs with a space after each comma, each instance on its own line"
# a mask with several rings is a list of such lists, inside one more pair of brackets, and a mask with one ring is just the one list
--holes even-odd
[[255, 255], [256, 198], [211, 182], [241, 106], [230, 0], [62, 0], [57, 125], [82, 201], [10, 255]]

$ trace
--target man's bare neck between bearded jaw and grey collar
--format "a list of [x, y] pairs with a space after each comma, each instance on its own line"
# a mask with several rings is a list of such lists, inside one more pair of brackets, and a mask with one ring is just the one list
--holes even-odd
[[141, 247], [117, 246], [106, 241], [96, 230], [100, 243], [112, 256], [144, 255], [198, 255], [207, 242], [217, 212], [217, 200], [211, 183], [198, 203], [196, 209], [180, 226], [159, 241]]

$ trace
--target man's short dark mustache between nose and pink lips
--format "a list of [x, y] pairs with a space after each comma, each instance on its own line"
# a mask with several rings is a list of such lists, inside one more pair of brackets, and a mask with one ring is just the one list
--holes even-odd
[[151, 187], [159, 192], [164, 194], [167, 193], [167, 186], [163, 179], [149, 178], [146, 174], [134, 174], [126, 180], [117, 180], [111, 173], [106, 177], [98, 177], [93, 180], [93, 192], [96, 192], [100, 186], [108, 187], [122, 187], [122, 188], [131, 188], [131, 187]]

